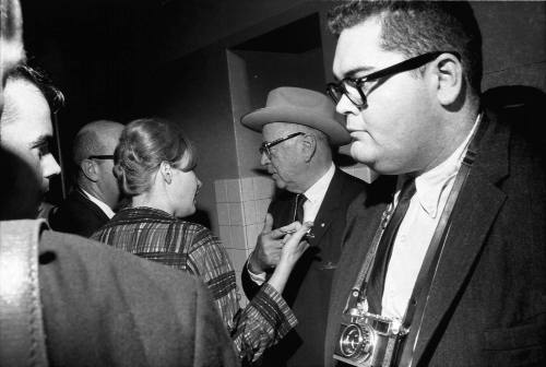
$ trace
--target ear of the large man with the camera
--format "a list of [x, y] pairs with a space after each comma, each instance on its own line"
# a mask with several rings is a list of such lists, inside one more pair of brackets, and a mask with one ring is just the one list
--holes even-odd
[[452, 54], [442, 54], [435, 60], [435, 81], [438, 100], [443, 106], [454, 104], [464, 92], [463, 67]]

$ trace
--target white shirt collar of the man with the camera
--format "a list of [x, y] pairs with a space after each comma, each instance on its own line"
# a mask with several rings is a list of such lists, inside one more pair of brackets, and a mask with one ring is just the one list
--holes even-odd
[[[471, 139], [479, 123], [480, 117], [482, 115], [477, 116], [471, 132], [446, 161], [415, 178], [417, 200], [419, 200], [423, 210], [432, 218], [435, 218], [438, 214], [440, 198], [443, 190], [450, 180], [456, 176], [456, 173], [461, 167]], [[401, 187], [400, 185], [402, 182], [399, 180], [399, 187]]]

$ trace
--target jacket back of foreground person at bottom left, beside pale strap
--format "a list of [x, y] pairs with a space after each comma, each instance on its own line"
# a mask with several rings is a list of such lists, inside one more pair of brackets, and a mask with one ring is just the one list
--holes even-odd
[[49, 365], [238, 365], [197, 279], [51, 230], [43, 233], [39, 253]]

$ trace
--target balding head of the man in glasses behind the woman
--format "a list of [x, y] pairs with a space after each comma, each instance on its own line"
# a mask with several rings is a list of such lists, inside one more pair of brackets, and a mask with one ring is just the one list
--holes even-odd
[[99, 120], [84, 126], [75, 135], [73, 161], [79, 167], [78, 185], [85, 191], [115, 208], [119, 188], [114, 177], [114, 151], [123, 125]]

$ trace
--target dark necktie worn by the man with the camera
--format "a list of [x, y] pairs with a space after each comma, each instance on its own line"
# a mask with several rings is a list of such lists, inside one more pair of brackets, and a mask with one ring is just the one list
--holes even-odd
[[410, 201], [415, 193], [415, 179], [408, 179], [400, 192], [399, 204], [392, 214], [387, 228], [384, 229], [381, 240], [373, 260], [373, 268], [371, 269], [370, 279], [366, 289], [366, 298], [368, 300], [369, 312], [381, 313], [381, 299], [383, 298], [384, 277], [387, 275], [387, 268], [391, 259], [392, 247], [396, 233], [399, 232], [400, 224], [410, 208]]

